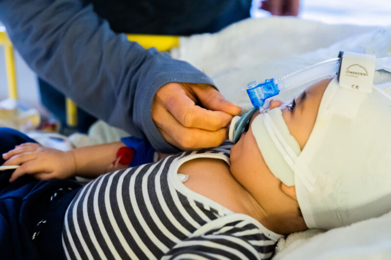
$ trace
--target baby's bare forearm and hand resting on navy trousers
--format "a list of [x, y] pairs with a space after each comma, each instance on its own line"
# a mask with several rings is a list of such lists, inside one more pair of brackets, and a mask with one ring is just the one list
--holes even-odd
[[123, 146], [123, 142], [112, 142], [64, 152], [38, 143], [23, 143], [3, 154], [6, 160], [3, 165], [20, 165], [11, 175], [10, 181], [24, 174], [33, 174], [40, 180], [66, 179], [75, 175], [95, 178], [128, 166], [113, 165], [118, 149]]

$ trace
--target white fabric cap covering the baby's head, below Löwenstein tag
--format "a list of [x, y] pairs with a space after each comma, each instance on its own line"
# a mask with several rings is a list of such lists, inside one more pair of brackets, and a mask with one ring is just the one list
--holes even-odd
[[[347, 113], [340, 111], [344, 107]], [[315, 180], [313, 191], [295, 176], [306, 225], [330, 229], [389, 212], [390, 158], [390, 97], [375, 87], [368, 94], [332, 80], [299, 156]]]

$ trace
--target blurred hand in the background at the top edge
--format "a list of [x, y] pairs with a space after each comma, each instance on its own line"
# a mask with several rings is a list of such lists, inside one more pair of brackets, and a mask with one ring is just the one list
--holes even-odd
[[262, 0], [260, 8], [272, 15], [297, 16], [299, 0]]

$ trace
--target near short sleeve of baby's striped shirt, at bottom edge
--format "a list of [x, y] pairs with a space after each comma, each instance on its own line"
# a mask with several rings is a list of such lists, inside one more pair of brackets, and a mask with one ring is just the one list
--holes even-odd
[[276, 242], [254, 224], [238, 221], [180, 241], [162, 260], [269, 260], [274, 254]]

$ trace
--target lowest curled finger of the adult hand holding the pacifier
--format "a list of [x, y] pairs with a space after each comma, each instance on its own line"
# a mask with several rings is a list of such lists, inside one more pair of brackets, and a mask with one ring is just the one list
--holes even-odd
[[227, 139], [227, 128], [217, 131], [187, 128], [176, 121], [168, 111], [163, 111], [159, 122], [155, 123], [163, 138], [182, 150], [214, 147]]

